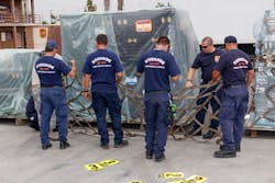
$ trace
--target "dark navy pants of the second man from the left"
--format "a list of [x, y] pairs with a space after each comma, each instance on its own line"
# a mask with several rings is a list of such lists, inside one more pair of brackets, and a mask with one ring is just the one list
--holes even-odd
[[106, 122], [107, 108], [111, 117], [114, 144], [120, 145], [123, 140], [123, 131], [121, 125], [121, 100], [118, 96], [117, 90], [92, 91], [92, 107], [97, 116], [101, 146], [109, 144], [109, 133]]

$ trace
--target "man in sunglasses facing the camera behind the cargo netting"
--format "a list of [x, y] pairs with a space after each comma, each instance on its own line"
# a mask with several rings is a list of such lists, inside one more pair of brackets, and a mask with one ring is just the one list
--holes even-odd
[[[217, 65], [217, 62], [220, 59], [221, 54], [223, 54], [224, 50], [222, 49], [217, 49], [213, 47], [213, 41], [211, 37], [207, 36], [202, 38], [201, 41], [201, 52], [197, 55], [197, 57], [194, 60], [193, 66], [189, 68], [188, 73], [187, 73], [187, 80], [186, 80], [186, 87], [190, 88], [193, 87], [193, 77], [195, 73], [195, 70], [200, 68], [201, 69], [201, 83], [200, 84], [208, 84], [211, 81], [211, 75], [213, 71], [213, 67]], [[217, 114], [217, 111], [220, 108], [220, 105], [217, 101], [217, 98], [220, 100], [221, 98], [221, 90], [218, 90], [217, 93], [213, 93], [213, 91], [217, 89], [218, 84], [212, 85], [211, 88], [201, 88], [199, 94], [200, 95], [207, 95], [210, 93], [212, 96], [209, 100], [209, 102], [206, 102], [209, 96], [204, 96], [199, 98], [196, 103], [197, 105], [204, 104], [206, 107], [208, 107], [209, 103], [212, 108], [212, 114]], [[216, 98], [215, 98], [216, 96]], [[205, 115], [206, 115], [206, 108], [202, 107], [197, 114], [196, 114], [196, 119], [197, 123], [194, 122], [194, 127], [191, 131], [189, 131], [190, 135], [200, 135], [201, 134], [201, 128], [200, 124], [204, 124], [205, 122]], [[202, 138], [204, 139], [210, 139], [213, 137], [215, 131], [219, 127], [219, 121], [217, 118], [212, 118], [208, 133], [206, 133]], [[213, 129], [213, 130], [211, 130]]]

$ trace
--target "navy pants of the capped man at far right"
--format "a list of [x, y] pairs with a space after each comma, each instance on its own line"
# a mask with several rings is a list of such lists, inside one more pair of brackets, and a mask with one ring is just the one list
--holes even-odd
[[245, 85], [223, 90], [219, 119], [227, 150], [234, 150], [237, 146], [241, 145], [248, 103], [249, 91]]

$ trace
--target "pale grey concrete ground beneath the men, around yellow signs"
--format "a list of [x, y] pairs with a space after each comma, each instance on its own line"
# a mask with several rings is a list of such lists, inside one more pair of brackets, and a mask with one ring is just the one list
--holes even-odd
[[[204, 175], [208, 183], [275, 183], [275, 134], [244, 137], [237, 158], [216, 159], [215, 140], [191, 139], [166, 146], [163, 162], [144, 158], [143, 137], [129, 138], [130, 146], [103, 150], [98, 136], [69, 133], [72, 147], [59, 149], [58, 141], [42, 150], [38, 133], [28, 126], [0, 123], [0, 183], [166, 183], [180, 179], [158, 178], [163, 172], [183, 172], [185, 178]], [[101, 171], [88, 171], [85, 164], [116, 159], [120, 162]]]

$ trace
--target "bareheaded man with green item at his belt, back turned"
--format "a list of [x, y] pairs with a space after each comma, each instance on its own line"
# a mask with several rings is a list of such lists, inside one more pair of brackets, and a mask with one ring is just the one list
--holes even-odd
[[145, 53], [138, 64], [136, 76], [144, 72], [146, 158], [162, 161], [168, 133], [169, 77], [176, 82], [179, 68], [169, 50], [169, 39], [161, 36], [153, 50]]

